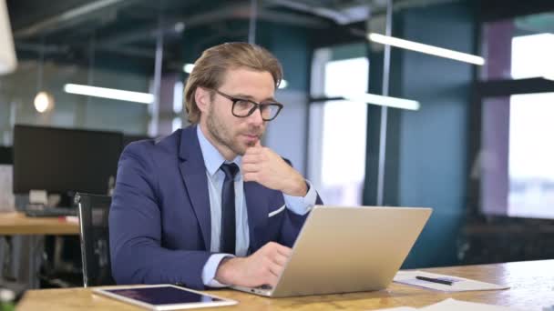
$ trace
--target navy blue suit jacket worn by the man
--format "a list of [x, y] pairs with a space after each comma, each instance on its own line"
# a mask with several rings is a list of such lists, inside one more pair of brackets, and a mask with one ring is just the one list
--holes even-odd
[[[307, 215], [287, 208], [282, 193], [244, 183], [250, 252], [270, 241], [292, 247]], [[321, 199], [317, 198], [318, 204]], [[128, 145], [118, 164], [109, 212], [112, 274], [118, 284], [203, 288], [210, 257], [210, 197], [196, 126], [160, 141]]]

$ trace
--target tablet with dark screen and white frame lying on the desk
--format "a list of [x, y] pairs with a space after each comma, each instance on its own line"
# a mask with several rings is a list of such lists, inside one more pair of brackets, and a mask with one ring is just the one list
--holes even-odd
[[104, 291], [154, 306], [224, 301], [217, 297], [197, 294], [172, 286], [104, 289]]

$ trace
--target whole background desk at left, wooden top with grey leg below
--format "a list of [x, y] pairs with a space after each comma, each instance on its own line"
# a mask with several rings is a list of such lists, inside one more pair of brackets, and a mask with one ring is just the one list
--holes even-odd
[[[12, 274], [18, 283], [28, 284], [31, 288], [38, 287], [37, 273], [46, 235], [78, 236], [79, 225], [57, 217], [27, 217], [19, 212], [0, 213], [0, 236], [16, 236], [12, 238], [12, 254], [9, 256], [13, 262]], [[57, 248], [60, 243], [56, 239]], [[0, 262], [4, 264], [3, 260]]]

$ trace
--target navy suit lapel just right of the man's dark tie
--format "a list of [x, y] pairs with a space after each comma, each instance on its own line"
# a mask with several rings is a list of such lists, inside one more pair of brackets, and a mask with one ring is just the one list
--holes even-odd
[[262, 229], [267, 226], [268, 203], [263, 196], [265, 189], [258, 183], [244, 183], [244, 197], [248, 209], [248, 227], [250, 231], [250, 247], [258, 249], [264, 244]]

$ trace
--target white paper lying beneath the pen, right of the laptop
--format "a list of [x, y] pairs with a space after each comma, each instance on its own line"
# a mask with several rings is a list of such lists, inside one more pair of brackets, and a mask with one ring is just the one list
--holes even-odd
[[[429, 281], [416, 279], [415, 276], [426, 276], [432, 278], [438, 278], [441, 280], [446, 280], [452, 282], [452, 285], [445, 285], [439, 283], [433, 283]], [[396, 273], [394, 281], [396, 283], [425, 287], [445, 292], [465, 292], [471, 290], [498, 290], [498, 289], [507, 289], [509, 286], [499, 286], [496, 284], [486, 283], [471, 280], [459, 276], [446, 276], [439, 275], [435, 273], [425, 272], [425, 271], [398, 271]]]

